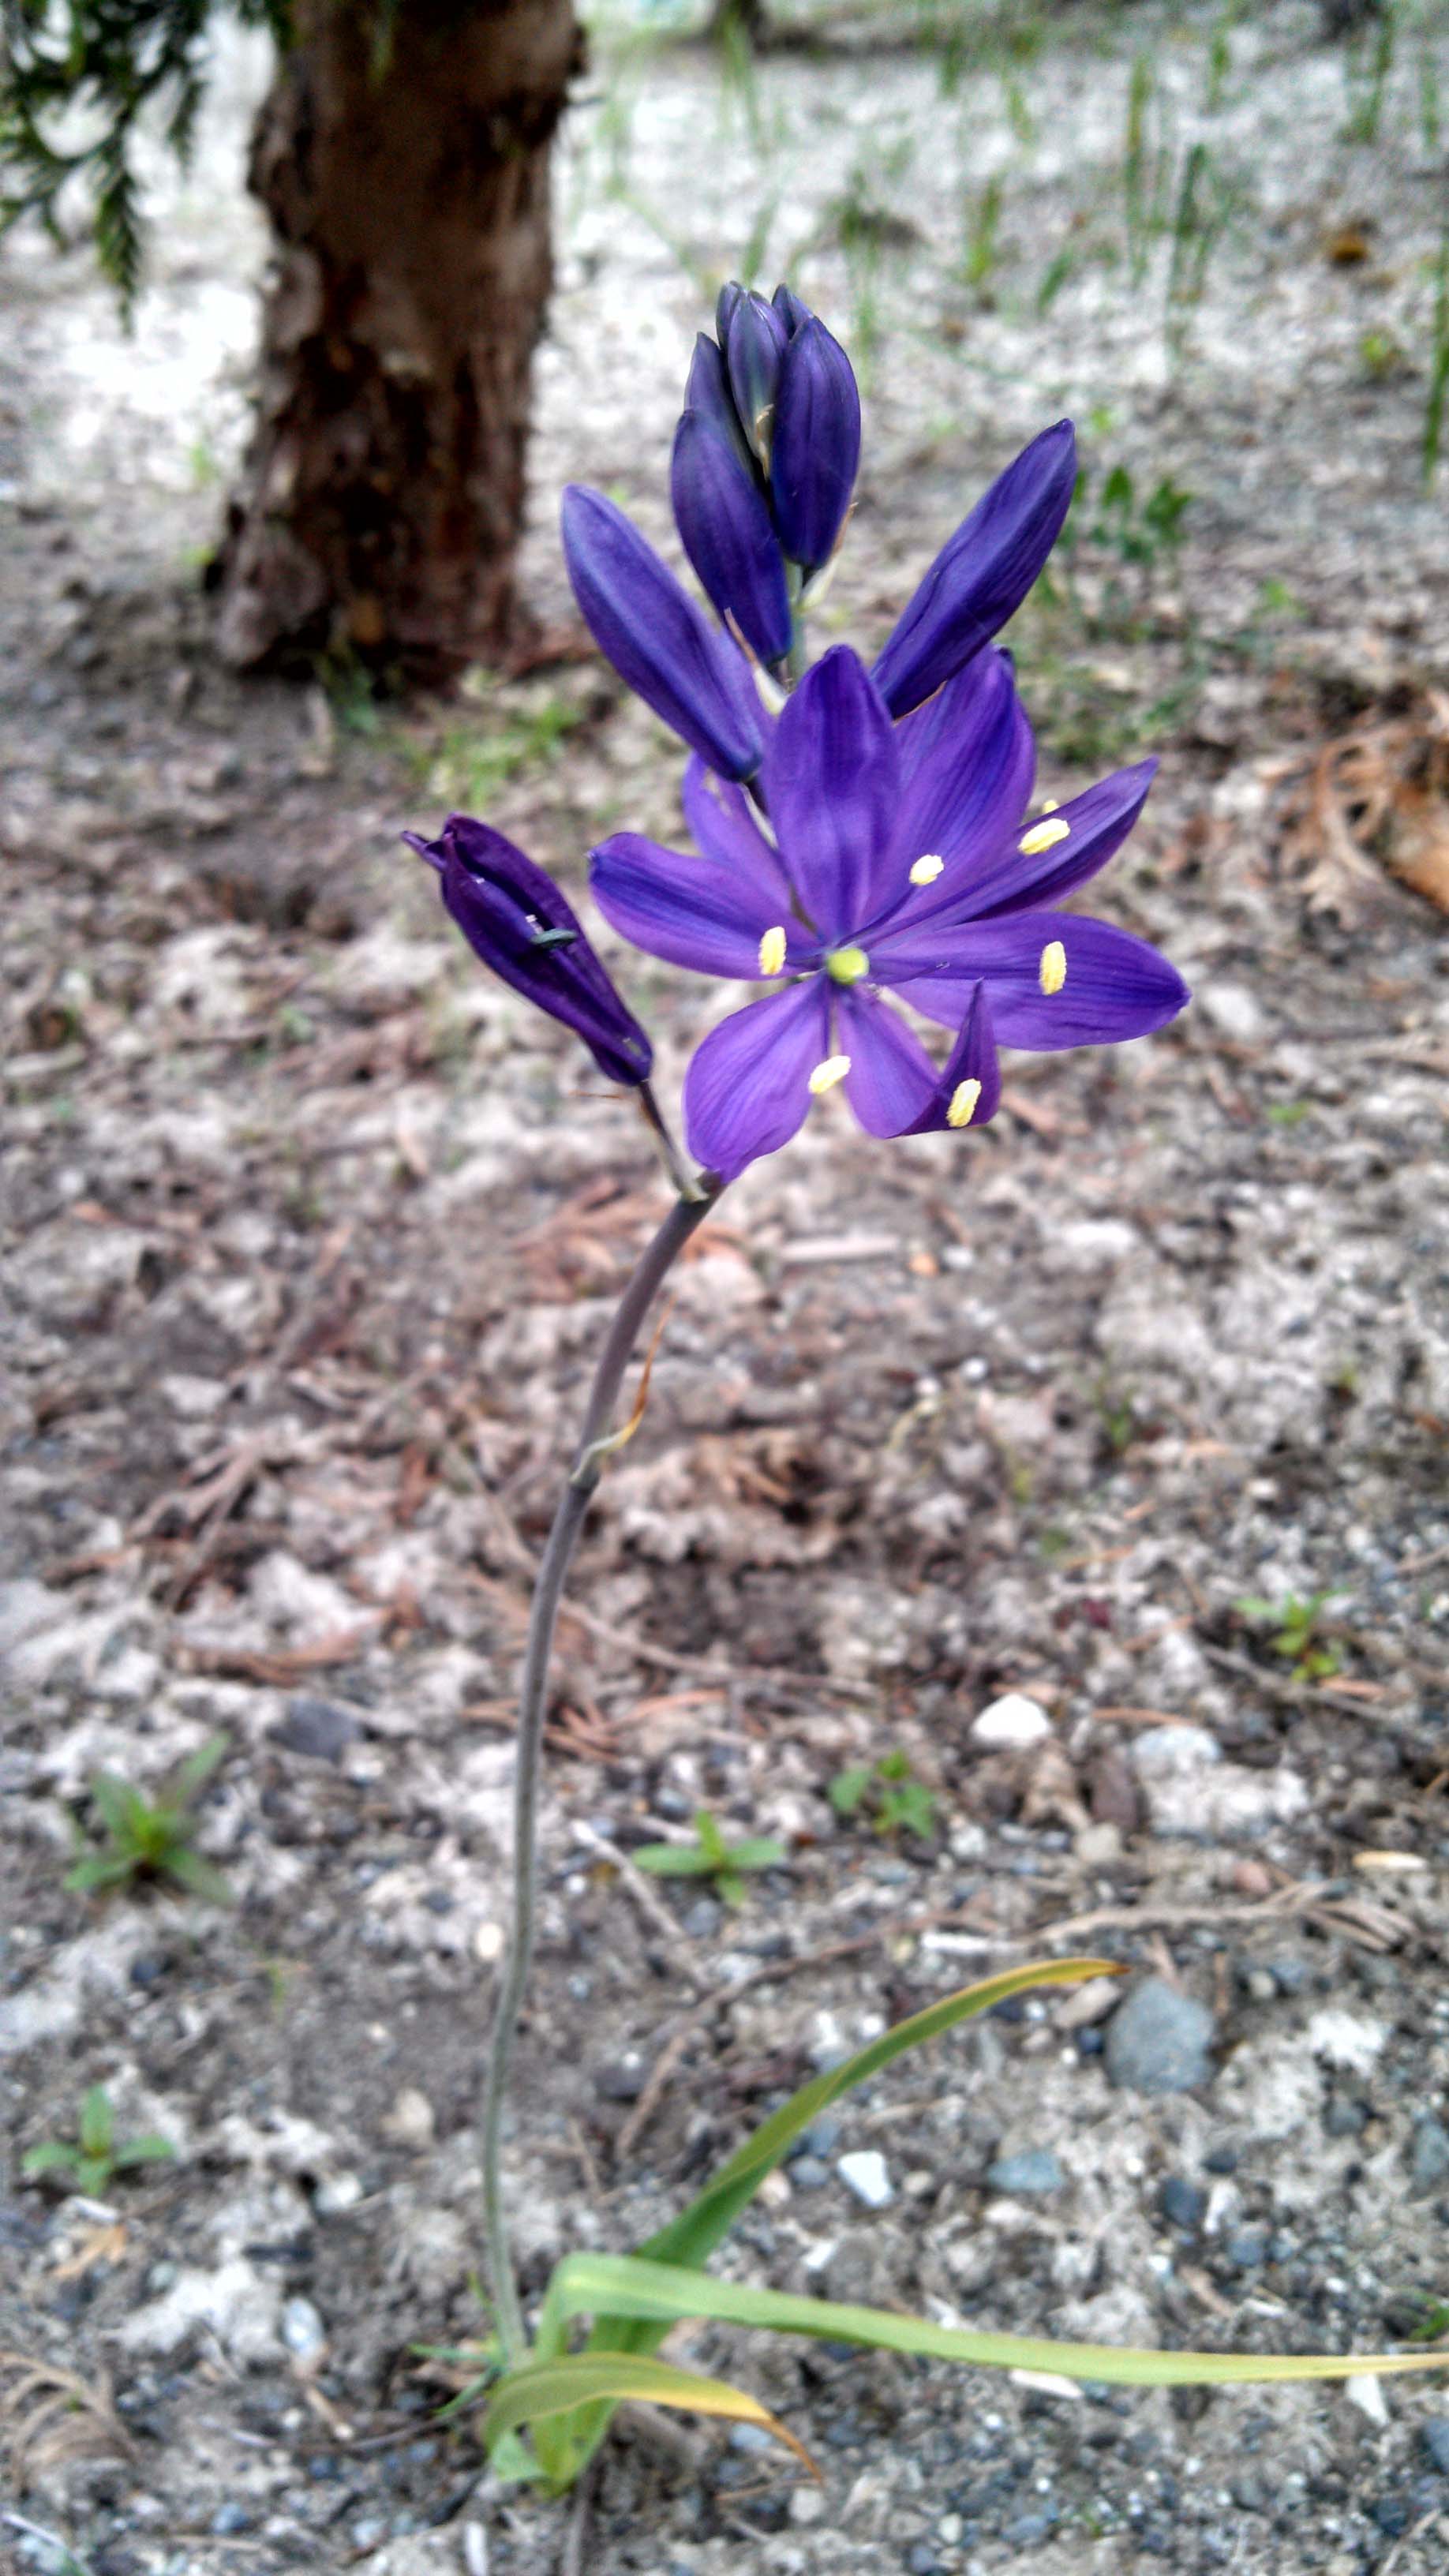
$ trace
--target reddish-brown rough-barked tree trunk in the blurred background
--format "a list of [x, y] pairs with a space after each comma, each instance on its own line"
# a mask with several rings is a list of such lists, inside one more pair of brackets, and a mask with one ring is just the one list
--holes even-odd
[[443, 677], [498, 647], [549, 294], [570, 0], [299, 0], [250, 188], [276, 234], [260, 397], [214, 567], [235, 667]]

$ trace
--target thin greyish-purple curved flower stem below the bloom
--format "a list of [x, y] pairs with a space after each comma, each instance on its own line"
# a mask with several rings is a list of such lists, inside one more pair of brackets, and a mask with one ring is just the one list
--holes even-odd
[[539, 1772], [544, 1754], [544, 1708], [549, 1685], [549, 1656], [554, 1643], [554, 1623], [559, 1615], [559, 1597], [565, 1577], [570, 1569], [578, 1535], [583, 1530], [588, 1504], [598, 1476], [603, 1473], [601, 1440], [606, 1437], [614, 1419], [614, 1401], [629, 1365], [629, 1355], [639, 1337], [639, 1327], [655, 1303], [673, 1262], [683, 1252], [694, 1229], [709, 1216], [717, 1188], [699, 1185], [699, 1198], [676, 1198], [670, 1213], [665, 1216], [660, 1231], [655, 1234], [650, 1249], [642, 1255], [634, 1270], [614, 1324], [608, 1327], [608, 1340], [598, 1358], [593, 1376], [593, 1391], [588, 1399], [588, 1412], [583, 1417], [583, 1432], [570, 1468], [570, 1479], [559, 1494], [559, 1507], [554, 1512], [554, 1525], [549, 1530], [544, 1556], [539, 1561], [539, 1579], [534, 1584], [534, 1607], [529, 1615], [529, 1649], [523, 1656], [523, 1687], [518, 1695], [518, 1747], [513, 1757], [513, 1932], [508, 1942], [508, 1955], [503, 1960], [503, 1981], [498, 1989], [498, 2009], [492, 2020], [492, 2038], [487, 2045], [485, 2081], [482, 2081], [482, 2228], [487, 2251], [487, 2277], [492, 2287], [492, 2313], [498, 2321], [498, 2334], [503, 2342], [503, 2357], [508, 2367], [516, 2367], [529, 2349], [529, 2336], [523, 2329], [523, 2308], [518, 2303], [518, 2282], [513, 2280], [513, 2257], [508, 2249], [508, 2223], [503, 2215], [503, 2184], [500, 2184], [500, 2143], [503, 2143], [503, 2099], [508, 2092], [508, 2066], [513, 2058], [513, 2040], [518, 2035], [518, 2014], [523, 2009], [523, 1994], [529, 1986], [529, 1968], [534, 1963], [534, 1935], [536, 1935], [536, 1880], [539, 1880]]

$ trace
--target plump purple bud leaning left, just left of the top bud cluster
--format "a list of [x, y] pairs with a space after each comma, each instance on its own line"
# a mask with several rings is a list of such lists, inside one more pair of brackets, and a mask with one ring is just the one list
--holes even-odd
[[753, 778], [766, 737], [750, 665], [603, 492], [567, 484], [565, 559], [583, 621], [645, 706], [719, 778]]

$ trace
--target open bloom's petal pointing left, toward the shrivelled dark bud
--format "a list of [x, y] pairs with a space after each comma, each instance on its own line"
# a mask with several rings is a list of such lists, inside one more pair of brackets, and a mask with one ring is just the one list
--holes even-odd
[[639, 832], [614, 832], [588, 863], [593, 899], [634, 948], [696, 974], [730, 974], [743, 984], [761, 976], [761, 940], [784, 930], [786, 953], [771, 969], [799, 974], [815, 961], [781, 904], [761, 902], [755, 886], [712, 858], [660, 850]]

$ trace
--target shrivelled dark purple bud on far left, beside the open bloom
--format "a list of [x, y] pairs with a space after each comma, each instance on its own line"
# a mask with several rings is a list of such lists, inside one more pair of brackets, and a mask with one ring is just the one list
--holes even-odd
[[650, 1079], [652, 1046], [544, 868], [472, 814], [449, 814], [438, 840], [402, 840], [438, 871], [446, 909], [492, 974], [572, 1028], [611, 1082]]

